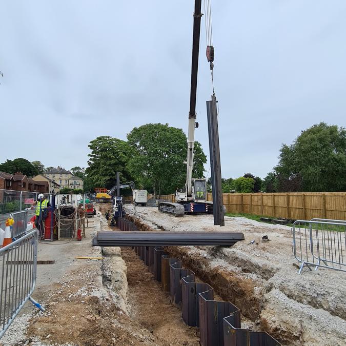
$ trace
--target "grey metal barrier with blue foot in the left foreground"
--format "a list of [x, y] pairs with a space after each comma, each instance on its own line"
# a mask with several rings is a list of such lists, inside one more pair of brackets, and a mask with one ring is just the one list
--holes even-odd
[[31, 297], [36, 284], [37, 234], [31, 231], [0, 249], [0, 338], [28, 300], [45, 311]]

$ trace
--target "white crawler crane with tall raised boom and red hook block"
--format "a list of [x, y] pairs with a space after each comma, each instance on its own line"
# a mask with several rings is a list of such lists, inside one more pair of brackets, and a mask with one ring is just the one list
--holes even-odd
[[[201, 21], [201, 0], [195, 0], [195, 11], [193, 13], [193, 40], [192, 40], [192, 66], [191, 66], [191, 89], [190, 89], [190, 111], [188, 128], [188, 155], [187, 173], [184, 189], [176, 192], [176, 202], [159, 202], [158, 210], [171, 213], [175, 216], [184, 216], [185, 213], [212, 213], [213, 203], [208, 202], [207, 181], [205, 178], [193, 178], [193, 149], [196, 122], [196, 93], [198, 73], [199, 35]], [[214, 60], [214, 48], [207, 47], [207, 58], [212, 64]], [[212, 66], [212, 65], [211, 65]]]

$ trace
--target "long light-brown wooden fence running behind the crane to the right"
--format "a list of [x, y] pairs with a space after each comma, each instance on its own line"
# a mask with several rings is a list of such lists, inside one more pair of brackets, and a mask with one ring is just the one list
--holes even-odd
[[[175, 201], [175, 195], [164, 195]], [[229, 213], [310, 220], [314, 217], [346, 220], [346, 192], [223, 193]], [[211, 192], [207, 200], [212, 201]]]

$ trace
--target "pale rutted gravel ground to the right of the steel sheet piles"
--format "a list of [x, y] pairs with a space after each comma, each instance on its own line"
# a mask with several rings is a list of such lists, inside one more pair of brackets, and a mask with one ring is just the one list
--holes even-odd
[[[219, 290], [224, 299], [235, 303], [245, 316], [284, 344], [346, 344], [346, 274], [320, 268], [313, 272], [304, 269], [298, 275], [290, 227], [242, 217], [225, 217], [225, 227], [218, 227], [212, 215], [177, 218], [150, 207], [126, 206], [126, 210], [149, 229], [242, 232], [245, 240], [232, 248], [184, 247], [173, 251], [190, 260], [196, 266], [193, 270], [214, 280], [214, 288], [218, 284], [215, 277], [221, 275], [228, 284], [247, 292], [248, 301], [232, 294], [229, 287]], [[263, 235], [270, 241], [261, 242]], [[252, 240], [255, 242], [250, 244]]]

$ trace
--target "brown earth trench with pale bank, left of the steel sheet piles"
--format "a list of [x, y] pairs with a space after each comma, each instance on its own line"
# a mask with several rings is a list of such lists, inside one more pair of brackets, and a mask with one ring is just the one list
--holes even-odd
[[103, 248], [103, 255], [103, 285], [116, 309], [130, 318], [133, 330], [141, 331], [140, 341], [153, 346], [199, 345], [197, 328], [184, 323], [181, 310], [170, 302], [169, 294], [161, 290], [134, 250]]

